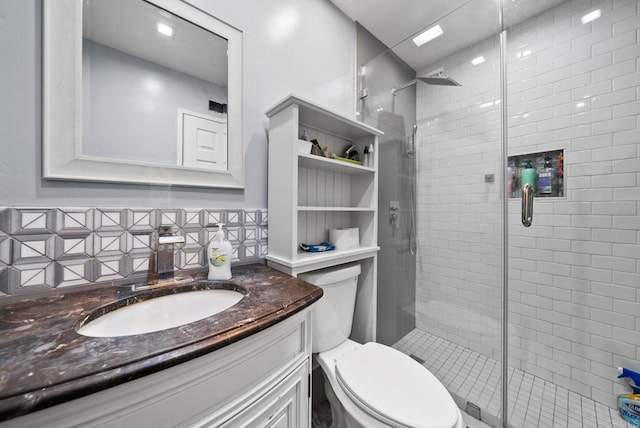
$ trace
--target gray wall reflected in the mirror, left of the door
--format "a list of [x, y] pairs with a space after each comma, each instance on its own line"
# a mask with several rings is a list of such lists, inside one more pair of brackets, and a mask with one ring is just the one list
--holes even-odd
[[178, 108], [216, 116], [227, 88], [82, 40], [82, 153], [176, 165]]

